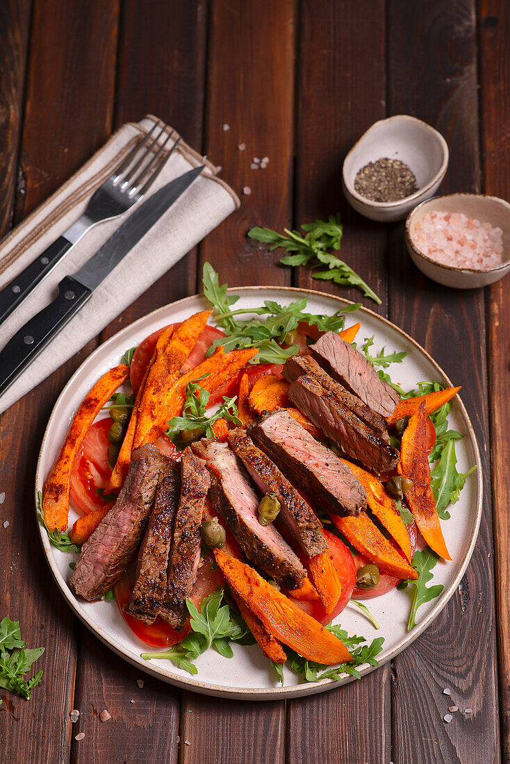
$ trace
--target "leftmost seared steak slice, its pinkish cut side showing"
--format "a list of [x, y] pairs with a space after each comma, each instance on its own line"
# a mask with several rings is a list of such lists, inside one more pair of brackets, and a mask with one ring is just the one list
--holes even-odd
[[83, 544], [70, 587], [85, 600], [99, 600], [122, 578], [147, 528], [163, 457], [153, 445], [132, 453], [119, 498]]

